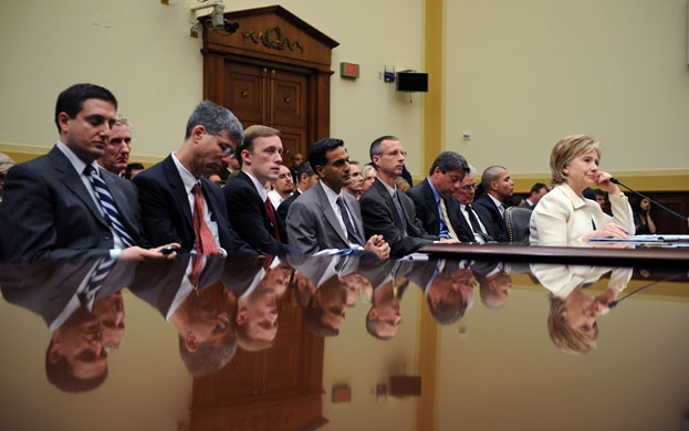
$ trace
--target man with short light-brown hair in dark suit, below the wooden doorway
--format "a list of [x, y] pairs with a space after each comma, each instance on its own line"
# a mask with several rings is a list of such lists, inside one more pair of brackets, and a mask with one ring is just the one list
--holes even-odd
[[265, 126], [248, 127], [244, 141], [237, 153], [241, 172], [223, 189], [230, 222], [239, 235], [259, 253], [290, 252], [284, 223], [275, 214], [264, 188], [280, 172], [280, 132]]

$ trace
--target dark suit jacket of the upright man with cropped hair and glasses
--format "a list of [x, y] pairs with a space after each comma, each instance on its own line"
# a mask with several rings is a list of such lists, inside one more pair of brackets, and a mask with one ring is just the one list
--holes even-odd
[[407, 220], [408, 236], [404, 236], [404, 225], [395, 209], [393, 198], [379, 179], [376, 179], [359, 199], [366, 238], [382, 234], [390, 245], [390, 257], [414, 253], [432, 241], [439, 240], [438, 236], [426, 233], [421, 227], [416, 218], [416, 209], [411, 198], [403, 192], [398, 192], [398, 196], [403, 213]]

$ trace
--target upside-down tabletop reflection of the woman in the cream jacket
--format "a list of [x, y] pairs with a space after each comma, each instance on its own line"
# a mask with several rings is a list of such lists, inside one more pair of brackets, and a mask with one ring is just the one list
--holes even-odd
[[[550, 291], [547, 333], [560, 349], [585, 354], [596, 346], [598, 323], [596, 318], [609, 312], [609, 304], [617, 298], [631, 278], [631, 269], [605, 266], [567, 266], [533, 264], [531, 271], [543, 287]], [[610, 272], [608, 288], [591, 297], [583, 287], [598, 281]]]

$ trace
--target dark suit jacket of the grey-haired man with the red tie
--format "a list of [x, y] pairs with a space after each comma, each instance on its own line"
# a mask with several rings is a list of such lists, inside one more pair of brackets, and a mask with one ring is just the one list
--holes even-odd
[[[178, 242], [181, 253], [194, 250], [194, 214], [173, 156], [137, 175], [134, 183], [138, 187], [144, 230], [153, 245]], [[220, 188], [201, 178], [201, 192], [211, 219], [218, 223], [219, 245], [228, 254], [253, 253], [232, 230]]]

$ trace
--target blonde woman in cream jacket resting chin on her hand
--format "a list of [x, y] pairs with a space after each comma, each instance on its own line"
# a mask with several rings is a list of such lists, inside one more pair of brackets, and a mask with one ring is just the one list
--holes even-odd
[[[601, 146], [589, 136], [567, 136], [555, 144], [551, 154], [554, 187], [531, 214], [531, 244], [581, 245], [594, 236], [634, 234], [629, 202], [612, 176], [598, 170], [599, 159]], [[607, 191], [614, 217], [584, 198], [584, 189], [594, 185]]]

